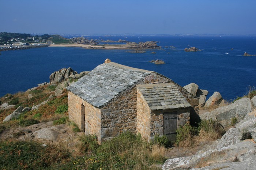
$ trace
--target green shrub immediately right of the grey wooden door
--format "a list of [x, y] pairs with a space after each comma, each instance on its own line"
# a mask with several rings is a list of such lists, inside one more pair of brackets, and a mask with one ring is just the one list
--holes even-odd
[[197, 134], [197, 129], [189, 124], [179, 127], [176, 135], [176, 145], [180, 147], [193, 146], [193, 137]]

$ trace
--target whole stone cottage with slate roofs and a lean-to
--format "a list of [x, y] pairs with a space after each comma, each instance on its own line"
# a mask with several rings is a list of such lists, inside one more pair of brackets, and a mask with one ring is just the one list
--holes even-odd
[[176, 129], [198, 114], [196, 96], [154, 71], [110, 61], [67, 87], [69, 119], [98, 141], [123, 131], [175, 140]]

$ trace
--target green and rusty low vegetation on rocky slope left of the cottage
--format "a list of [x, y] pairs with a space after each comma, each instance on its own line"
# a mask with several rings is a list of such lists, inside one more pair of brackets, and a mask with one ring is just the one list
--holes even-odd
[[[61, 96], [54, 97], [45, 105], [39, 107], [38, 110], [23, 112], [16, 119], [12, 119], [9, 122], [2, 122], [7, 115], [10, 115], [19, 106], [32, 108], [33, 105], [44, 102], [49, 98], [50, 95], [54, 95], [55, 87], [56, 86], [45, 85], [37, 87], [33, 91], [6, 94], [0, 98], [1, 103], [8, 102], [8, 104], [15, 105], [15, 108], [0, 110], [0, 133], [4, 129], [9, 129], [11, 127], [25, 127], [32, 124], [48, 122], [52, 120], [56, 120], [56, 124], [62, 124], [64, 122], [66, 123], [68, 121], [67, 91], [65, 91]], [[29, 94], [31, 94], [33, 97], [28, 98]]]

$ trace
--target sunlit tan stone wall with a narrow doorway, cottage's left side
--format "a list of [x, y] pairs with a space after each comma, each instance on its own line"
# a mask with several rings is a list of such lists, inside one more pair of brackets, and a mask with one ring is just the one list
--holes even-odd
[[100, 109], [92, 106], [79, 96], [68, 91], [68, 115], [69, 119], [74, 121], [79, 129], [82, 128], [81, 106], [84, 105], [85, 134], [97, 135], [98, 142], [101, 142], [101, 111]]

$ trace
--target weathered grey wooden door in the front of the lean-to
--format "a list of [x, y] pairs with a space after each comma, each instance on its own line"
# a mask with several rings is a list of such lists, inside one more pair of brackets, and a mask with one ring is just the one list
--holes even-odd
[[163, 114], [163, 134], [169, 141], [176, 141], [177, 112], [167, 112]]

